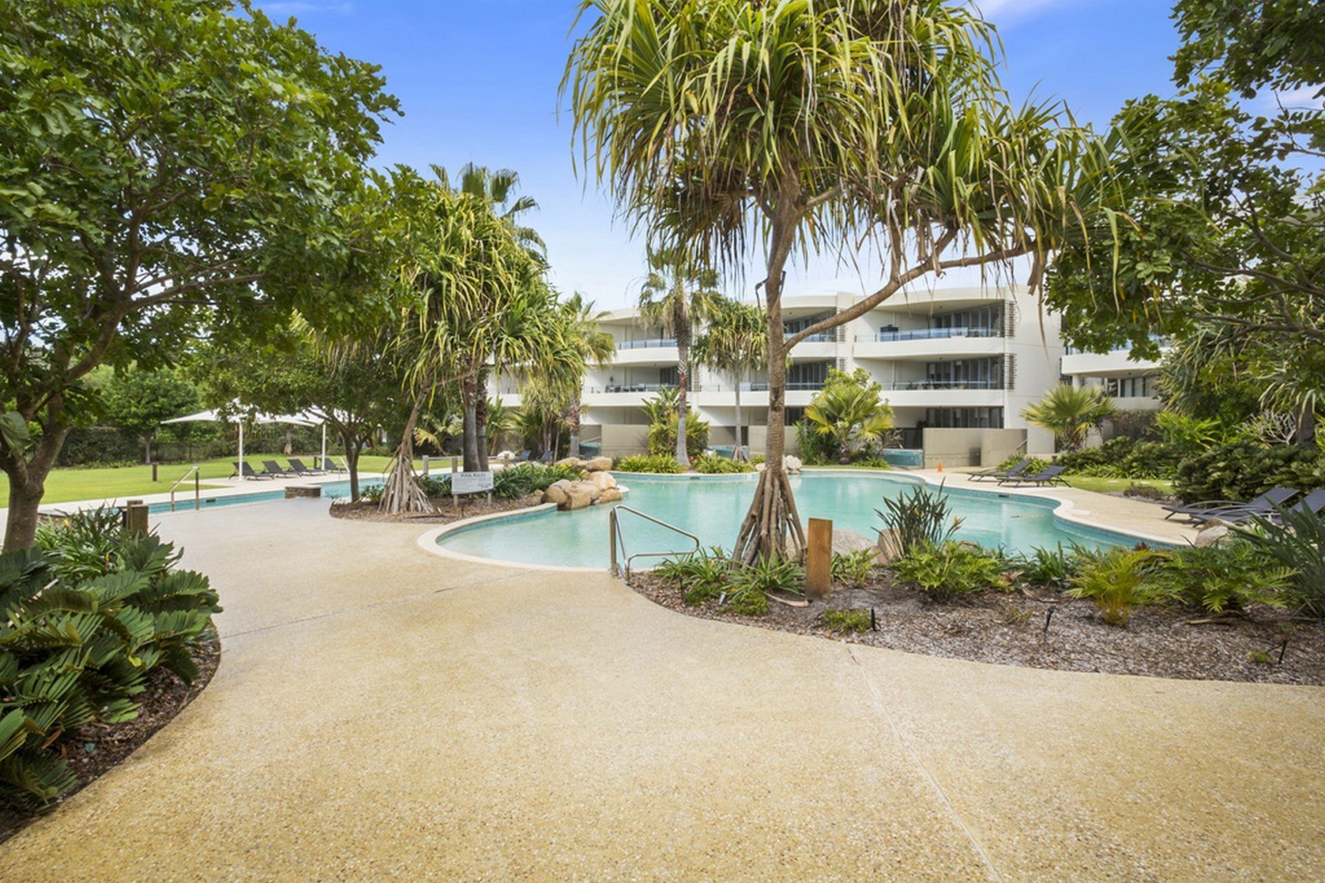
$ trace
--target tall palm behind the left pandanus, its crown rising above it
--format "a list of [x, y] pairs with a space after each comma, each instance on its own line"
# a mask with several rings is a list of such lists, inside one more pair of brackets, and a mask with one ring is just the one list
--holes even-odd
[[[510, 228], [515, 242], [523, 248], [531, 261], [545, 262], [546, 245], [538, 232], [522, 224], [522, 217], [538, 209], [531, 196], [518, 196], [519, 175], [507, 168], [489, 169], [485, 165], [466, 163], [460, 168], [456, 180], [441, 167], [433, 172], [444, 187], [473, 196], [485, 204]], [[493, 353], [500, 355], [500, 353]], [[464, 436], [461, 447], [466, 470], [488, 469], [488, 369], [484, 363], [469, 367], [460, 380], [460, 397], [464, 412]]]

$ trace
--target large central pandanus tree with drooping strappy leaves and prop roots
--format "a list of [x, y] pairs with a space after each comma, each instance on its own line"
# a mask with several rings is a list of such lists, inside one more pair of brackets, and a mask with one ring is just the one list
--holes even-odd
[[[651, 241], [734, 269], [762, 245], [768, 465], [734, 557], [795, 557], [787, 353], [926, 275], [1040, 262], [1094, 210], [1108, 151], [1052, 106], [1014, 109], [992, 28], [941, 0], [583, 0], [571, 50], [582, 162]], [[878, 287], [787, 336], [792, 254], [872, 244]]]

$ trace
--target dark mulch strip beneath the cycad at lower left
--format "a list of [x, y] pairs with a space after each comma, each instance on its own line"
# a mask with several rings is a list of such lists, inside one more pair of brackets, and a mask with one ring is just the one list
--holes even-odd
[[[197, 679], [192, 686], [163, 667], [154, 669], [147, 679], [147, 688], [139, 698], [142, 704], [135, 719], [111, 725], [78, 727], [54, 743], [53, 748], [69, 761], [78, 782], [65, 792], [49, 812], [57, 812], [60, 804], [123, 763], [203, 692], [221, 661], [220, 639], [215, 634], [203, 639], [192, 658], [197, 666]], [[37, 818], [40, 815], [0, 802], [0, 843]]]

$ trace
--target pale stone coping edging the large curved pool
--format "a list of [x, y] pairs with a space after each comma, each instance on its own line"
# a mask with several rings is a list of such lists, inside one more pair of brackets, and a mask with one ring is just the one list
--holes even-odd
[[[906, 478], [910, 483], [914, 483], [914, 485], [930, 485], [930, 486], [934, 486], [934, 487], [943, 487], [943, 490], [946, 490], [946, 491], [967, 491], [969, 490], [969, 491], [974, 491], [974, 492], [992, 494], [992, 495], [998, 495], [998, 496], [1019, 496], [1019, 498], [1027, 499], [1027, 500], [1045, 500], [1045, 502], [1056, 503], [1056, 506], [1049, 511], [1049, 514], [1053, 515], [1055, 519], [1059, 519], [1059, 520], [1063, 520], [1063, 522], [1069, 522], [1072, 524], [1076, 524], [1079, 527], [1084, 527], [1084, 528], [1088, 528], [1088, 530], [1092, 530], [1092, 531], [1101, 531], [1101, 532], [1109, 534], [1112, 536], [1125, 537], [1125, 539], [1134, 539], [1134, 540], [1142, 541], [1142, 543], [1150, 543], [1153, 545], [1161, 545], [1161, 547], [1166, 547], [1166, 548], [1177, 545], [1173, 541], [1171, 537], [1161, 537], [1161, 536], [1155, 536], [1153, 534], [1146, 534], [1146, 532], [1141, 532], [1141, 531], [1124, 531], [1124, 530], [1120, 530], [1120, 528], [1109, 526], [1109, 524], [1102, 524], [1100, 522], [1094, 522], [1094, 520], [1090, 520], [1088, 518], [1083, 518], [1080, 515], [1075, 515], [1072, 512], [1072, 510], [1076, 508], [1076, 504], [1071, 499], [1064, 499], [1061, 496], [1052, 496], [1051, 495], [1052, 494], [1052, 488], [970, 487], [970, 482], [963, 482], [963, 485], [961, 487], [946, 487], [946, 485], [945, 485], [946, 478], [934, 478], [931, 475], [925, 475], [925, 474], [921, 474], [921, 473], [906, 473], [906, 471], [896, 470], [896, 469], [852, 469], [852, 470], [839, 470], [839, 469], [814, 469], [814, 467], [807, 467], [807, 469], [803, 469], [800, 471], [802, 473], [815, 473], [815, 474], [819, 474], [819, 475], [840, 475], [840, 474], [848, 474], [848, 475], [849, 474], [889, 475], [889, 477], [897, 477], [897, 478]], [[643, 478], [648, 478], [648, 479], [685, 478], [685, 479], [693, 479], [693, 481], [698, 481], [698, 479], [725, 479], [725, 481], [731, 481], [731, 479], [742, 479], [742, 478], [747, 478], [747, 477], [750, 479], [753, 479], [755, 475], [758, 475], [758, 473], [716, 473], [716, 474], [680, 473], [680, 474], [669, 474], [669, 473], [617, 473], [617, 471], [613, 471], [612, 474], [613, 475], [643, 477]], [[954, 475], [955, 474], [958, 474], [958, 473], [954, 473]], [[1027, 491], [1031, 491], [1031, 492], [1027, 492]], [[1035, 492], [1035, 491], [1039, 491], [1039, 492]], [[1094, 494], [1096, 491], [1083, 491], [1083, 492], [1085, 492], [1085, 494]], [[474, 515], [474, 516], [470, 516], [470, 518], [460, 519], [458, 522], [450, 522], [449, 524], [440, 524], [440, 526], [437, 526], [435, 528], [431, 528], [431, 530], [425, 531], [424, 534], [421, 534], [415, 541], [419, 545], [419, 548], [424, 549], [425, 552], [431, 552], [432, 555], [437, 555], [440, 557], [452, 559], [452, 560], [457, 560], [457, 561], [469, 561], [472, 564], [488, 564], [488, 565], [492, 565], [492, 567], [504, 567], [504, 568], [510, 568], [510, 569], [515, 569], [515, 571], [549, 571], [549, 572], [554, 572], [554, 573], [603, 573], [604, 571], [608, 571], [608, 568], [603, 568], [603, 567], [570, 567], [570, 565], [566, 565], [566, 564], [530, 564], [530, 563], [526, 563], [526, 561], [504, 561], [501, 559], [480, 557], [477, 555], [465, 555], [462, 552], [453, 552], [450, 549], [444, 548], [441, 545], [441, 543], [439, 541], [439, 540], [441, 540], [441, 537], [447, 536], [448, 534], [458, 534], [458, 532], [470, 530], [473, 527], [477, 527], [478, 524], [482, 524], [485, 522], [496, 522], [496, 520], [506, 519], [506, 518], [534, 518], [534, 516], [543, 515], [543, 514], [546, 514], [549, 511], [553, 511], [553, 510], [556, 510], [556, 504], [555, 503], [541, 503], [539, 506], [530, 506], [529, 508], [514, 510], [514, 511], [510, 511], [510, 512], [489, 512], [486, 515]]]

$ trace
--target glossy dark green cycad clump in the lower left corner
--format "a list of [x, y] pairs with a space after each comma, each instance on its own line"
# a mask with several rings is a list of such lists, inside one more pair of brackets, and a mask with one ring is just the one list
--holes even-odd
[[221, 608], [207, 577], [178, 561], [172, 544], [129, 535], [105, 512], [0, 555], [0, 798], [49, 805], [74, 784], [61, 735], [135, 718], [158, 666], [197, 676], [192, 651]]

